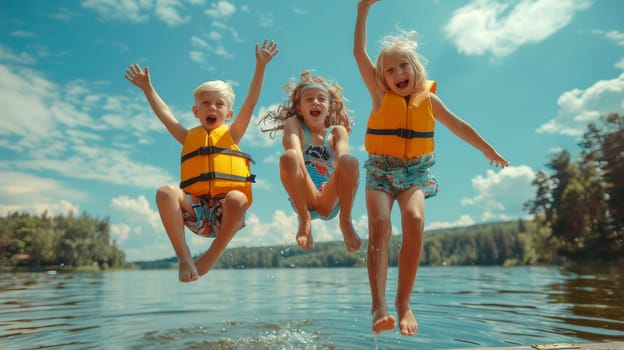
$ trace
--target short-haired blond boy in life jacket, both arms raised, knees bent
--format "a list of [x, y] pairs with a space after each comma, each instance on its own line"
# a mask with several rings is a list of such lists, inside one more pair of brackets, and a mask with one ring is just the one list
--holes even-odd
[[[156, 203], [163, 226], [179, 260], [182, 282], [197, 280], [217, 261], [234, 234], [244, 226], [245, 212], [251, 205], [250, 158], [240, 152], [253, 109], [258, 102], [267, 63], [279, 50], [274, 42], [256, 44], [256, 68], [237, 118], [234, 114], [234, 91], [223, 81], [209, 81], [193, 92], [193, 114], [200, 126], [186, 129], [173, 116], [150, 80], [148, 68], [138, 64], [126, 70], [126, 79], [143, 91], [152, 110], [169, 133], [183, 145], [180, 187], [161, 186]], [[184, 226], [194, 233], [215, 237], [210, 248], [193, 262], [186, 244]]]

